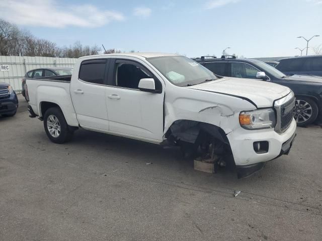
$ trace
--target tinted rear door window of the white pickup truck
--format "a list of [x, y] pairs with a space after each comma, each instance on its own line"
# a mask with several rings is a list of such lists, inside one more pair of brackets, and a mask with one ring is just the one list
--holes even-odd
[[93, 83], [105, 84], [107, 73], [107, 59], [85, 60], [79, 68], [78, 78], [80, 80]]

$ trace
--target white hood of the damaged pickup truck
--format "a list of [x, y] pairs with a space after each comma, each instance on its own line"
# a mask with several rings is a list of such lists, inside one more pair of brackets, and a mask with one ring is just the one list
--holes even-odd
[[223, 77], [187, 88], [240, 97], [255, 104], [258, 108], [272, 107], [274, 100], [291, 92], [288, 87], [279, 84], [232, 77]]

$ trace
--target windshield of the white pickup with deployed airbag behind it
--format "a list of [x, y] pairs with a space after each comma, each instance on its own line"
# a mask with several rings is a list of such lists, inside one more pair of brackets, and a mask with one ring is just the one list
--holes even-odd
[[146, 60], [177, 86], [195, 85], [218, 79], [210, 70], [184, 56], [162, 56]]

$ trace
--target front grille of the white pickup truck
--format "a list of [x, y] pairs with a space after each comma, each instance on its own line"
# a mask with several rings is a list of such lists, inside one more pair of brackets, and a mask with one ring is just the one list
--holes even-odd
[[282, 133], [289, 128], [293, 120], [293, 108], [295, 104], [295, 98], [291, 98], [280, 106], [275, 106], [277, 113], [277, 123], [275, 131]]

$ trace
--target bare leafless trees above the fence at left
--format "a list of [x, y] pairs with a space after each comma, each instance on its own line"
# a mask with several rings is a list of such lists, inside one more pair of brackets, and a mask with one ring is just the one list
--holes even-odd
[[[83, 46], [79, 41], [69, 47], [59, 47], [54, 42], [39, 39], [29, 31], [24, 31], [17, 25], [0, 19], [0, 55], [79, 58], [99, 54], [101, 50], [97, 45]], [[117, 51], [109, 49], [107, 52]]]

